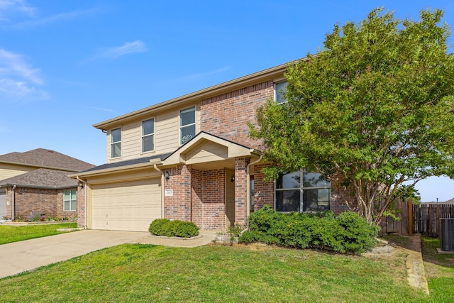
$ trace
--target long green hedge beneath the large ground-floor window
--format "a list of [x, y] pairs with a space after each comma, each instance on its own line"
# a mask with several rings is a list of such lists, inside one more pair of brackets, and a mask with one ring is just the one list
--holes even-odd
[[378, 227], [353, 211], [335, 216], [319, 214], [280, 214], [270, 206], [253, 212], [249, 228], [239, 242], [261, 242], [292, 248], [331, 248], [345, 253], [361, 253], [375, 246]]

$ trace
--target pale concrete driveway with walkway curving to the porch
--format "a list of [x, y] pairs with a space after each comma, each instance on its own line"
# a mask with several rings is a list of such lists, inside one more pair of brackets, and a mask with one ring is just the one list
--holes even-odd
[[185, 240], [150, 236], [147, 232], [84, 230], [7, 243], [0, 245], [0, 278], [123, 243], [195, 247], [211, 243], [215, 237], [213, 231], [201, 231], [199, 237]]

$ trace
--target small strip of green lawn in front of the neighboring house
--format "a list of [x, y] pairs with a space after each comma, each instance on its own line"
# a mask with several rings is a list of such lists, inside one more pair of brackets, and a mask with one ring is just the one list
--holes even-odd
[[77, 223], [37, 224], [26, 226], [0, 225], [0, 244], [23, 241], [62, 233], [58, 228], [76, 228]]

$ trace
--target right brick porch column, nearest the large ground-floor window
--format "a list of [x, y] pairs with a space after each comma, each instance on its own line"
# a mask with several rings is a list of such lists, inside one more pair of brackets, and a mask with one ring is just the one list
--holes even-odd
[[235, 225], [244, 226], [248, 217], [248, 180], [246, 167], [250, 162], [249, 158], [235, 158]]

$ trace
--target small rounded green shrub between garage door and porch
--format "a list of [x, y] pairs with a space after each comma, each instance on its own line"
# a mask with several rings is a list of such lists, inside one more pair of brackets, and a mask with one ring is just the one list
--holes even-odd
[[156, 219], [148, 228], [156, 236], [191, 238], [199, 235], [199, 227], [192, 222], [169, 219]]

